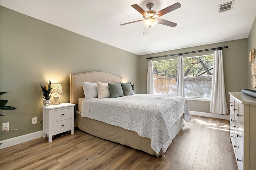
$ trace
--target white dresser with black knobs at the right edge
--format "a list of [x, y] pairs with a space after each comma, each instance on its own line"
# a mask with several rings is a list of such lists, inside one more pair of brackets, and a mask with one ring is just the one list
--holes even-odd
[[238, 170], [256, 170], [256, 98], [230, 94], [230, 141]]

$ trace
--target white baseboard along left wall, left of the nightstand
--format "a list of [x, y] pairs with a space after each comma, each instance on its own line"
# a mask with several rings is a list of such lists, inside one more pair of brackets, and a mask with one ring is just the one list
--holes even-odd
[[31, 141], [33, 139], [37, 139], [37, 138], [40, 138], [40, 137], [43, 137], [43, 131], [37, 131], [37, 132], [34, 132], [34, 133], [29, 133], [29, 134], [14, 137], [14, 138], [11, 138], [11, 139], [6, 139], [4, 141], [0, 141], [0, 143], [2, 143], [0, 145], [0, 149], [11, 147], [13, 145], [18, 145], [20, 143]]

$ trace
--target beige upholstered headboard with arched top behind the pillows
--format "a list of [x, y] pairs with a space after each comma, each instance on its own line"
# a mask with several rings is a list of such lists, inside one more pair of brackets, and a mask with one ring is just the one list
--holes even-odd
[[83, 82], [96, 83], [97, 81], [102, 83], [122, 82], [122, 77], [118, 77], [113, 74], [102, 71], [69, 74], [70, 103], [78, 104], [78, 98], [85, 97], [83, 90]]

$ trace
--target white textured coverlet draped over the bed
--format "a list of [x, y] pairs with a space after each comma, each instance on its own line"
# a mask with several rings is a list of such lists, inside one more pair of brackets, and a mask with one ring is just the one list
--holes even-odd
[[159, 153], [170, 139], [168, 129], [182, 116], [189, 122], [191, 117], [184, 98], [134, 94], [119, 98], [91, 98], [82, 101], [83, 117], [90, 117], [151, 139], [151, 147]]

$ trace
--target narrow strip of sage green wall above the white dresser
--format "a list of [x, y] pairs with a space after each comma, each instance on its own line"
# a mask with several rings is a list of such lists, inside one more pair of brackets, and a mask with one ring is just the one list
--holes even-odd
[[[250, 31], [249, 37], [248, 37], [248, 53], [247, 56], [249, 56], [249, 52], [255, 48], [256, 49], [256, 17], [254, 19], [254, 23], [252, 25], [252, 29]], [[249, 57], [248, 57], [249, 59]], [[252, 62], [256, 63], [256, 58], [252, 60]], [[254, 74], [256, 75], [256, 74]], [[252, 71], [251, 71], [251, 63], [249, 63], [248, 60], [248, 89], [256, 90], [252, 86]]]

